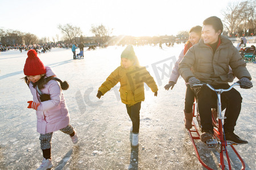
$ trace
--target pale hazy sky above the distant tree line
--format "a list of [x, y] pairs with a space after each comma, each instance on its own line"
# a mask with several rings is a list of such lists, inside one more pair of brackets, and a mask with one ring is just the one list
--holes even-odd
[[221, 10], [232, 0], [0, 0], [0, 28], [41, 37], [61, 33], [59, 24], [80, 27], [93, 36], [92, 24], [114, 28], [112, 35], [176, 35], [202, 25], [209, 16], [223, 18]]

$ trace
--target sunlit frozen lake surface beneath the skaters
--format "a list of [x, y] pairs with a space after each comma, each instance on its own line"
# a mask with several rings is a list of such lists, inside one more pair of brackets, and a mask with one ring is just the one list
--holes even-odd
[[[184, 128], [184, 80], [180, 78], [173, 90], [164, 90], [183, 45], [163, 46], [163, 49], [159, 46], [134, 47], [141, 65], [147, 66], [159, 88], [158, 96], [154, 97], [145, 87], [139, 146], [135, 148], [130, 146], [131, 121], [119, 98], [118, 84], [100, 100], [96, 97], [98, 87], [120, 65], [124, 47], [86, 51], [84, 59], [76, 60], [72, 59], [71, 49], [52, 49], [39, 54], [44, 65], [52, 67], [58, 78], [69, 83], [64, 96], [71, 125], [79, 135], [79, 143], [73, 145], [68, 135], [60, 131], [53, 134], [52, 169], [205, 169]], [[27, 108], [32, 95], [20, 79], [24, 77], [26, 58], [27, 52], [18, 50], [0, 54], [0, 169], [36, 169], [43, 158], [36, 114]], [[247, 63], [247, 69], [256, 86], [256, 64]], [[249, 142], [235, 148], [245, 161], [246, 169], [255, 169], [256, 90], [255, 87], [250, 90], [235, 88], [243, 97], [235, 133]], [[218, 152], [199, 141], [196, 145], [203, 161], [219, 169]], [[241, 169], [230, 147], [228, 151], [232, 168]]]

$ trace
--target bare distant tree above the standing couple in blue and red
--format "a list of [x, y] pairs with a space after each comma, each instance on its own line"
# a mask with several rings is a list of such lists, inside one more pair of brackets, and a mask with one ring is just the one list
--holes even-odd
[[64, 35], [64, 39], [72, 42], [75, 37], [79, 37], [82, 35], [82, 31], [80, 27], [73, 26], [71, 24], [59, 25], [58, 28], [60, 29], [61, 33]]

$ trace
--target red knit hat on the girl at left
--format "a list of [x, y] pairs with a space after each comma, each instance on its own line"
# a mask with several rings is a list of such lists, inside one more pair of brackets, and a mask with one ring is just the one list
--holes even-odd
[[46, 67], [44, 67], [44, 64], [38, 58], [38, 53], [34, 49], [28, 50], [27, 56], [23, 69], [25, 75], [46, 74]]

